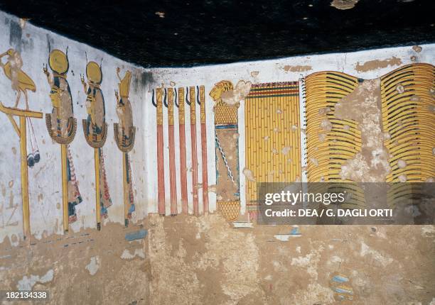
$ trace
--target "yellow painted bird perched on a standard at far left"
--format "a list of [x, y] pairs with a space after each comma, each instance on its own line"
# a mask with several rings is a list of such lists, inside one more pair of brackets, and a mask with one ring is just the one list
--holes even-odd
[[[4, 64], [1, 58], [6, 55], [8, 55], [8, 57], [6, 64]], [[23, 92], [26, 99], [26, 109], [28, 110], [27, 90], [35, 92], [36, 85], [33, 80], [26, 73], [24, 73], [23, 70], [21, 70], [21, 67], [23, 67], [23, 60], [21, 59], [20, 53], [14, 49], [9, 49], [6, 52], [0, 54], [0, 67], [3, 68], [6, 77], [11, 79], [12, 89], [17, 92], [14, 108], [18, 106], [21, 92]]]

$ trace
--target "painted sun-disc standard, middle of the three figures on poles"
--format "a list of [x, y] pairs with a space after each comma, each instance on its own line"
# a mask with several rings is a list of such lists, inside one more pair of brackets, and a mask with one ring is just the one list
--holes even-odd
[[101, 90], [102, 70], [97, 62], [88, 62], [86, 76], [81, 77], [86, 97], [87, 118], [82, 121], [83, 132], [87, 143], [94, 148], [95, 158], [95, 206], [97, 212], [97, 228], [101, 228], [101, 218], [107, 218], [107, 208], [112, 205], [104, 167], [102, 147], [107, 138], [106, 109]]

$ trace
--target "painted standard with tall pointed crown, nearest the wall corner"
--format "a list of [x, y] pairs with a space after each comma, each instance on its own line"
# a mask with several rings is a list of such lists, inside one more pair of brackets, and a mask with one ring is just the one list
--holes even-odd
[[131, 82], [131, 72], [125, 72], [124, 78], [119, 76], [120, 69], [117, 68], [117, 77], [119, 79], [119, 91], [115, 91], [117, 99], [117, 116], [119, 123], [114, 123], [114, 138], [119, 150], [122, 151], [122, 172], [124, 187], [124, 224], [128, 226], [131, 214], [134, 212], [134, 183], [133, 168], [129, 158], [129, 151], [134, 147], [134, 137], [136, 127], [133, 126], [133, 112], [129, 101], [129, 90]]

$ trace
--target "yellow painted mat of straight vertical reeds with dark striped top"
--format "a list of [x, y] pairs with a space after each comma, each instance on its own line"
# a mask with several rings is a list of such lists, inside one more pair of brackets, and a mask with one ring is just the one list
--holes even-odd
[[299, 82], [253, 84], [245, 98], [249, 218], [257, 211], [258, 182], [301, 181]]

